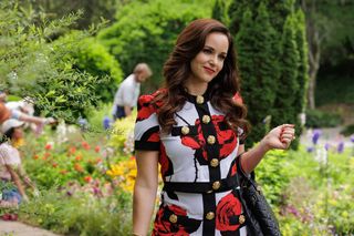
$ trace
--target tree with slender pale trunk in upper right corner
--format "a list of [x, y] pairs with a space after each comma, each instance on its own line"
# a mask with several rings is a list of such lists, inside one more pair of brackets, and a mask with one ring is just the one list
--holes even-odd
[[315, 89], [321, 62], [336, 64], [354, 49], [354, 2], [299, 0], [305, 13], [309, 45], [309, 107], [315, 109]]

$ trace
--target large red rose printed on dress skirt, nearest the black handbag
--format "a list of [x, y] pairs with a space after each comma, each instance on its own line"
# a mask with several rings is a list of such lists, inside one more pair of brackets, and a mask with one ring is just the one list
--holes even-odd
[[216, 217], [216, 228], [220, 232], [235, 232], [240, 225], [231, 224], [230, 218], [241, 214], [241, 203], [233, 195], [229, 193], [220, 199], [217, 205], [217, 217]]

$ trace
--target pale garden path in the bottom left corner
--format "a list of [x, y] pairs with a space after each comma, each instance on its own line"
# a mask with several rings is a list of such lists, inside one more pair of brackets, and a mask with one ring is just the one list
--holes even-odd
[[59, 236], [49, 230], [24, 225], [20, 222], [0, 220], [0, 236]]

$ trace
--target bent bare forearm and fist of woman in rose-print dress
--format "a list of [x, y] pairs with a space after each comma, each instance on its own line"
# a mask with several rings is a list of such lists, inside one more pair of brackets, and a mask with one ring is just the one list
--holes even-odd
[[[293, 124], [283, 124], [271, 130], [257, 146], [242, 154], [241, 166], [243, 172], [251, 173], [268, 151], [272, 148], [287, 150], [295, 137], [294, 133]], [[244, 145], [239, 147], [238, 153], [242, 152], [244, 152]]]

